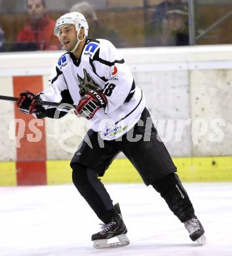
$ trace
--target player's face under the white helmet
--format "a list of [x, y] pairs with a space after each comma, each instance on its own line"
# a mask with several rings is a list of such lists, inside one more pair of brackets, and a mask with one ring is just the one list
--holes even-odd
[[72, 51], [77, 43], [77, 31], [73, 25], [64, 24], [58, 28], [60, 43], [65, 51]]

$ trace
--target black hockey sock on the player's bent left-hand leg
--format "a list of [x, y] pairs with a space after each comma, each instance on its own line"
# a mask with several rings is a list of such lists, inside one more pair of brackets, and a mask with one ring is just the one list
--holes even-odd
[[104, 223], [109, 223], [115, 214], [115, 210], [104, 184], [98, 179], [96, 171], [75, 163], [73, 164], [72, 178], [75, 187], [98, 218]]

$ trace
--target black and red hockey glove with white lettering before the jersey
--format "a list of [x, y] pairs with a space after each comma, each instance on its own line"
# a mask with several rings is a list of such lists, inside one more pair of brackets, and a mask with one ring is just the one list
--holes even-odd
[[100, 89], [88, 89], [76, 107], [75, 114], [91, 119], [100, 108], [106, 108], [107, 98]]

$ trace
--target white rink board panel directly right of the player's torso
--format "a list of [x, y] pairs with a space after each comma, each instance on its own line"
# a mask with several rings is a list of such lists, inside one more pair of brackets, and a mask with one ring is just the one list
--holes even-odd
[[[136, 84], [144, 91], [147, 108], [170, 154], [172, 156], [191, 156], [190, 125], [185, 127], [181, 143], [176, 140], [178, 131], [175, 132], [177, 120], [191, 118], [188, 71], [138, 72], [135, 78]], [[166, 127], [170, 127], [170, 130]]]

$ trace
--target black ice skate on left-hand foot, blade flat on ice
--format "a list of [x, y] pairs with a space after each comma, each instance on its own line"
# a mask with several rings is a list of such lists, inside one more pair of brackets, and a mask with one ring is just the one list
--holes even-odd
[[[92, 241], [94, 242], [94, 247], [96, 249], [125, 246], [130, 244], [130, 241], [126, 236], [127, 229], [121, 216], [119, 203], [114, 205], [114, 209], [115, 215], [112, 217], [111, 222], [102, 224], [102, 231], [92, 235]], [[108, 243], [109, 239], [115, 237], [117, 237], [119, 242]]]

